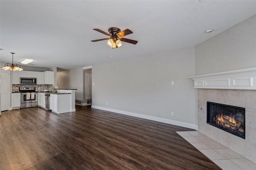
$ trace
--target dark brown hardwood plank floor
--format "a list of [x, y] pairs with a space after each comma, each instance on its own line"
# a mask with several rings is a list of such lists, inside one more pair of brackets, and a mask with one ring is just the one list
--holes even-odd
[[76, 106], [0, 116], [1, 170], [220, 170], [175, 131], [191, 129]]

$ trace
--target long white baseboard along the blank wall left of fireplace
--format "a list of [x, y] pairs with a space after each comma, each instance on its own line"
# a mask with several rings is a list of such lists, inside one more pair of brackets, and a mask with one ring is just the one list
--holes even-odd
[[111, 112], [114, 112], [114, 113], [120, 113], [120, 114], [123, 114], [123, 115], [140, 117], [140, 118], [143, 118], [143, 119], [148, 119], [148, 120], [153, 120], [153, 121], [158, 121], [158, 122], [162, 122], [162, 123], [168, 123], [168, 124], [171, 124], [171, 125], [177, 125], [177, 126], [182, 126], [182, 127], [187, 127], [187, 128], [190, 128], [190, 129], [198, 130], [198, 126], [194, 125], [192, 123], [185, 123], [185, 122], [171, 120], [171, 119], [165, 119], [165, 118], [161, 118], [161, 117], [142, 115], [142, 114], [139, 114], [139, 113], [132, 113], [132, 112], [128, 112], [128, 111], [122, 111], [122, 110], [111, 109], [111, 108], [100, 107], [100, 106], [94, 106], [94, 105], [92, 105], [92, 108], [111, 111]]

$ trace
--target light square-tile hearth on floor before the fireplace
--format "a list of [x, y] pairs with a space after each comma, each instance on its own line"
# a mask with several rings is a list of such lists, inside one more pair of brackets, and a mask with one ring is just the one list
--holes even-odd
[[223, 170], [255, 170], [256, 164], [198, 131], [176, 132]]

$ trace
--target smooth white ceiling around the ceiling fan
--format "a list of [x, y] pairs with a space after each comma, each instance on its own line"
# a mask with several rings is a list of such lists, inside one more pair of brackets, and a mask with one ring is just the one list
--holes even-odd
[[[0, 61], [10, 63], [14, 52], [17, 64], [72, 69], [193, 47], [255, 9], [255, 0], [0, 0]], [[124, 38], [138, 43], [91, 42], [108, 38], [94, 28], [110, 27], [132, 30]]]

